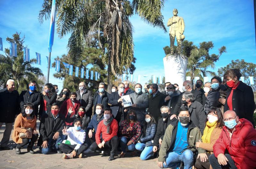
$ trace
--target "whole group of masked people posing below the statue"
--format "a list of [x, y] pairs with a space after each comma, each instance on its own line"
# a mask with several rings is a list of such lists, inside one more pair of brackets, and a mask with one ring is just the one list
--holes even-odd
[[[19, 95], [14, 81], [8, 80], [0, 90], [0, 126], [6, 127], [0, 148], [8, 149], [15, 121], [16, 154], [25, 145], [33, 154], [37, 141], [43, 154], [64, 153], [65, 159], [102, 150], [102, 156], [114, 160], [120, 148], [120, 158], [140, 152], [141, 160], [158, 157], [160, 168], [253, 169], [256, 105], [252, 88], [240, 77], [239, 70], [231, 69], [223, 81], [197, 80], [195, 89], [191, 81], [184, 81], [182, 92], [170, 82], [163, 92], [157, 84], [144, 85], [142, 92], [139, 83], [133, 91], [124, 81], [112, 86], [110, 94], [100, 83], [94, 95], [84, 82], [76, 92], [63, 88], [57, 95], [58, 86], [46, 84], [40, 93], [35, 81]], [[132, 106], [125, 107], [125, 95]]]

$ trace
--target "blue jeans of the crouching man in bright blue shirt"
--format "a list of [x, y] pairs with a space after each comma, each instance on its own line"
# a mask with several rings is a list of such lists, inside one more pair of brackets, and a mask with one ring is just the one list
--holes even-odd
[[194, 153], [191, 150], [185, 150], [181, 154], [174, 151], [166, 155], [166, 164], [164, 168], [179, 168], [180, 162], [184, 162], [184, 169], [192, 169], [194, 163]]

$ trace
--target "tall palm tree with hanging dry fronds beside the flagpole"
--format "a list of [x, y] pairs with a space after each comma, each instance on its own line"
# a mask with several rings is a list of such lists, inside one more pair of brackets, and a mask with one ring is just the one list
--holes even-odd
[[[39, 20], [50, 17], [51, 0], [44, 0]], [[68, 49], [75, 59], [84, 47], [98, 40], [108, 67], [108, 91], [114, 77], [129, 69], [133, 61], [132, 24], [129, 18], [138, 14], [148, 24], [166, 32], [161, 9], [163, 0], [58, 0], [56, 1], [59, 37], [71, 33]]]

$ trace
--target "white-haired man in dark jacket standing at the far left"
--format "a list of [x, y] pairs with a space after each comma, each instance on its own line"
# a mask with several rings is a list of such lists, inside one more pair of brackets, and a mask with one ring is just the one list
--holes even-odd
[[0, 90], [0, 128], [5, 123], [1, 150], [9, 150], [7, 145], [12, 132], [12, 123], [18, 113], [20, 113], [19, 93], [15, 90], [14, 80], [9, 79], [6, 82], [6, 88]]

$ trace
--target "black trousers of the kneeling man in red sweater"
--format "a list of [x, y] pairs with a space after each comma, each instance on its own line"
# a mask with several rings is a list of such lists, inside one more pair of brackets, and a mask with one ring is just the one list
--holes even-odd
[[[102, 142], [103, 140], [104, 140], [104, 139], [101, 139], [101, 142]], [[107, 141], [107, 142], [104, 144], [104, 148], [103, 148], [103, 149], [105, 149], [105, 150], [106, 150], [106, 149], [107, 149], [107, 150], [111, 149], [110, 154], [111, 154], [111, 155], [115, 155], [116, 150], [117, 150], [117, 146], [118, 146], [118, 142], [119, 142], [118, 137], [117, 137], [117, 136], [114, 136], [114, 137], [111, 138], [111, 140]], [[92, 145], [90, 146], [90, 149], [91, 149], [92, 151], [95, 151], [95, 150], [98, 149], [98, 148], [99, 148], [99, 147], [98, 147], [98, 144], [97, 144], [96, 142], [92, 143]]]

